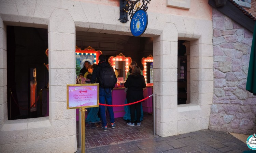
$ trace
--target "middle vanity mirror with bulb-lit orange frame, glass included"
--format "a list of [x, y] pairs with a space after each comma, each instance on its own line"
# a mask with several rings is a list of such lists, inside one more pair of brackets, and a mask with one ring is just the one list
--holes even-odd
[[109, 64], [117, 70], [118, 78], [126, 77], [126, 73], [129, 71], [129, 64], [131, 63], [131, 57], [125, 57], [122, 53], [114, 56], [109, 57]]

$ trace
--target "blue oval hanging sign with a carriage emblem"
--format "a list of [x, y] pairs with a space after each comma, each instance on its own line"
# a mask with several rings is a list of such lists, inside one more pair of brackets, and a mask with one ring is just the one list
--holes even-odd
[[131, 19], [130, 30], [135, 37], [142, 35], [147, 29], [147, 12], [144, 10], [137, 10]]

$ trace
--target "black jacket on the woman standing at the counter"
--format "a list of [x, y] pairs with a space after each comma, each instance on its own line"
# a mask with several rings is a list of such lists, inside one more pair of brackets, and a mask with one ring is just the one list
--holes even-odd
[[146, 82], [143, 75], [130, 74], [125, 82], [125, 87], [128, 88], [126, 94], [127, 103], [144, 99], [143, 88], [146, 87]]

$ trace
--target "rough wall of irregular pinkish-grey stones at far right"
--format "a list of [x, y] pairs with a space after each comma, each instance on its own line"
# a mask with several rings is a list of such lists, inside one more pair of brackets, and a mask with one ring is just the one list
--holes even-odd
[[245, 90], [253, 33], [213, 9], [214, 94], [210, 130], [256, 132], [256, 96]]

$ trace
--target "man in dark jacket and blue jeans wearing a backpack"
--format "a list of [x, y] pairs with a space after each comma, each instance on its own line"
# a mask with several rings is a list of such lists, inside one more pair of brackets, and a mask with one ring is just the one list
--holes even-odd
[[[93, 75], [91, 76], [91, 83], [99, 83], [99, 103], [100, 104], [106, 104], [112, 105], [112, 89], [115, 86], [115, 83], [117, 82], [117, 78], [114, 75], [114, 84], [113, 87], [103, 87], [102, 84], [99, 82], [100, 76], [101, 76], [101, 69], [103, 67], [108, 67], [110, 66], [109, 63], [106, 62], [106, 56], [101, 54], [99, 56], [99, 63], [94, 68], [93, 70]], [[112, 68], [113, 69], [113, 68]], [[114, 69], [113, 69], [114, 72]], [[97, 80], [96, 80], [97, 79]], [[102, 120], [102, 126], [101, 129], [103, 131], [108, 130], [108, 123], [106, 121], [106, 113], [105, 113], [105, 106], [100, 105], [100, 118]], [[115, 124], [115, 117], [114, 117], [114, 111], [113, 107], [107, 106], [108, 112], [109, 112], [109, 118], [110, 118], [110, 123], [111, 123], [111, 128], [114, 129], [116, 124]]]

